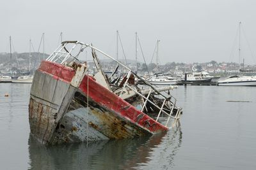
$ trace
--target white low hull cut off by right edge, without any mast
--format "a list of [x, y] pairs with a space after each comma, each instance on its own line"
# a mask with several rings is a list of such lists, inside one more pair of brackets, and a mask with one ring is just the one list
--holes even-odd
[[255, 76], [228, 76], [218, 81], [221, 86], [256, 86]]

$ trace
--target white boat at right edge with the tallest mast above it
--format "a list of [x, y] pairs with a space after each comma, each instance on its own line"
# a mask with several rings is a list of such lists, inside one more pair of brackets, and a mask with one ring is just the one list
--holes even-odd
[[[239, 71], [241, 71], [241, 22], [239, 22]], [[218, 81], [220, 86], [256, 86], [255, 76], [232, 75]]]

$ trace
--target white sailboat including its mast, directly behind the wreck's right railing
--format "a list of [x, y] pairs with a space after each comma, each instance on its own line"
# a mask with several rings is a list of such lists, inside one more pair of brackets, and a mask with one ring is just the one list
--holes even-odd
[[[159, 50], [159, 42], [160, 40], [157, 39], [157, 51], [156, 51], [156, 70], [158, 71], [158, 50]], [[172, 76], [169, 74], [162, 74], [162, 73], [156, 73], [154, 76], [150, 76], [150, 78], [147, 79], [149, 83], [152, 85], [177, 85], [177, 80], [175, 80]]]

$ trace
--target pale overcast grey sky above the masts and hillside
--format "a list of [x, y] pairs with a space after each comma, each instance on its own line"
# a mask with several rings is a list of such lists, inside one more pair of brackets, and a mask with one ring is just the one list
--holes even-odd
[[[147, 62], [157, 39], [161, 40], [161, 64], [238, 62], [238, 47], [233, 50], [234, 57], [230, 53], [241, 21], [254, 55], [242, 36], [242, 57], [246, 63], [256, 64], [255, 0], [1, 0], [1, 3], [0, 52], [9, 51], [9, 36], [17, 52], [29, 51], [29, 38], [38, 48], [45, 32], [45, 51], [51, 53], [62, 31], [63, 40], [93, 43], [115, 57], [118, 30], [129, 59], [135, 59], [134, 32], [138, 32]], [[139, 60], [143, 60], [140, 52]]]

